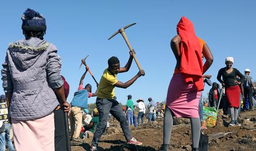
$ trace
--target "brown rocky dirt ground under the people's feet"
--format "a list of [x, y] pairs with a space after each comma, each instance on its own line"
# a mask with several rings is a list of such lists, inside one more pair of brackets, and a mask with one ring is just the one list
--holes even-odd
[[[147, 120], [145, 120], [147, 121]], [[228, 127], [229, 118], [219, 111], [217, 125], [204, 130], [205, 135], [228, 133], [220, 138], [209, 140], [208, 150], [256, 150], [256, 110], [240, 114], [241, 126]], [[143, 142], [142, 146], [129, 146], [124, 139], [117, 121], [110, 121], [107, 134], [101, 137], [98, 150], [158, 150], [163, 141], [163, 119], [155, 123], [144, 123], [138, 128], [130, 127], [132, 136]], [[209, 137], [210, 139], [210, 137]], [[83, 143], [71, 142], [72, 150], [90, 150], [91, 140]], [[186, 118], [174, 119], [170, 150], [191, 150], [190, 121]]]

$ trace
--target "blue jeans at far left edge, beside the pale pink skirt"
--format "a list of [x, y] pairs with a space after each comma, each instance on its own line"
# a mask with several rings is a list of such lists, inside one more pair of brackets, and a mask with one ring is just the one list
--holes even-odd
[[7, 144], [10, 151], [14, 151], [14, 145], [10, 139], [11, 124], [4, 124], [5, 131], [0, 134], [0, 150], [5, 150], [5, 143]]

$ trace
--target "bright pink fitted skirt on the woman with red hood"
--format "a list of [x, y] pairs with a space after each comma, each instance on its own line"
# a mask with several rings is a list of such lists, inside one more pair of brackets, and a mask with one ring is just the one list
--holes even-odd
[[174, 74], [168, 87], [166, 106], [176, 117], [199, 118], [198, 106], [202, 91], [197, 91], [193, 83], [187, 84], [182, 74]]

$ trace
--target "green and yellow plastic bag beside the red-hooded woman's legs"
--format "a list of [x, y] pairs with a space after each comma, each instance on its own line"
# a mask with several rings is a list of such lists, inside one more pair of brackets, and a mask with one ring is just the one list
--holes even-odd
[[216, 125], [217, 110], [214, 107], [203, 106], [203, 118], [207, 125], [207, 128], [212, 128]]

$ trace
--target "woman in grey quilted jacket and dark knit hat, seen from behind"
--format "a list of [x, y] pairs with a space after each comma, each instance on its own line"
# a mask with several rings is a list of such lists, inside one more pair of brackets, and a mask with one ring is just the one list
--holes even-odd
[[21, 19], [26, 39], [10, 43], [1, 72], [15, 148], [54, 150], [53, 110], [59, 105], [54, 91], [64, 111], [70, 109], [60, 75], [60, 56], [52, 43], [43, 40], [46, 21], [39, 12], [27, 9]]

